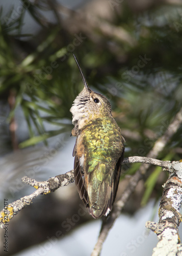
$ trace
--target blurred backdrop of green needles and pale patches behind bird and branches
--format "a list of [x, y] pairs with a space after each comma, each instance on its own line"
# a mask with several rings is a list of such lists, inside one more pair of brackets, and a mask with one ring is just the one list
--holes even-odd
[[[83, 89], [72, 53], [92, 90], [107, 96], [126, 140], [125, 157], [146, 156], [182, 102], [182, 4], [179, 0], [0, 1], [0, 206], [38, 181], [73, 168], [72, 102]], [[158, 159], [182, 155], [182, 127]], [[140, 164], [122, 170], [120, 195]], [[151, 166], [101, 255], [150, 255], [168, 175]], [[74, 184], [39, 196], [8, 227], [0, 255], [90, 255], [101, 221], [85, 210]], [[180, 229], [180, 228], [179, 228]]]

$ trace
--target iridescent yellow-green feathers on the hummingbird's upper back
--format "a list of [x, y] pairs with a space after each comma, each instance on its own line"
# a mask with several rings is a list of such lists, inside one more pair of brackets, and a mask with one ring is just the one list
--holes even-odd
[[102, 162], [109, 168], [115, 167], [123, 144], [121, 130], [114, 118], [97, 118], [90, 121], [84, 126], [81, 136], [85, 147], [88, 172], [92, 172], [97, 164]]

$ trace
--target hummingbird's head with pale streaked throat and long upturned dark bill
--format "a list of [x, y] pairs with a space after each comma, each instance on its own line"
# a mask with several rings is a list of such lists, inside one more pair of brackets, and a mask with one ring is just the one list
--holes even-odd
[[87, 81], [80, 68], [79, 62], [77, 61], [74, 54], [73, 56], [81, 72], [81, 76], [84, 82], [84, 89], [78, 96], [76, 96], [70, 112], [73, 115], [73, 124], [77, 124], [79, 126], [79, 129], [81, 129], [90, 120], [106, 115], [112, 115], [111, 104], [105, 96], [93, 92], [88, 87]]

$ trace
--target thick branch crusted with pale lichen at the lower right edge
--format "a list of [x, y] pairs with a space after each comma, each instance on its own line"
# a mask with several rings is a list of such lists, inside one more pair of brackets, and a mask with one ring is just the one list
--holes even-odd
[[146, 227], [158, 236], [157, 247], [152, 256], [182, 255], [182, 245], [179, 240], [178, 226], [182, 221], [179, 209], [182, 202], [182, 162], [174, 164], [172, 173], [164, 184], [163, 195], [159, 209], [159, 223], [148, 221]]

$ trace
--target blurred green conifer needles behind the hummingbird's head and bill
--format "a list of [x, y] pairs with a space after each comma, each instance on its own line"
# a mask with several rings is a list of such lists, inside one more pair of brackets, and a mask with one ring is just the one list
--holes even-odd
[[[112, 20], [100, 18], [100, 24], [111, 27], [106, 34], [101, 25], [90, 26], [87, 19], [87, 28], [77, 23], [76, 33], [72, 32], [65, 23], [74, 24], [76, 12], [59, 20], [53, 8], [57, 17], [53, 24], [42, 14], [51, 8], [46, 1], [26, 3], [29, 8], [24, 5], [16, 19], [12, 19], [13, 7], [6, 15], [1, 10], [0, 24], [0, 99], [8, 102], [13, 91], [15, 103], [8, 121], [20, 107], [29, 127], [30, 138], [20, 141], [19, 147], [71, 131], [69, 109], [83, 88], [74, 52], [91, 88], [112, 103], [113, 116], [126, 139], [125, 157], [146, 156], [182, 105], [182, 6], [164, 3], [137, 11], [124, 1], [117, 10], [110, 10]], [[25, 12], [41, 25], [40, 33], [21, 33]], [[56, 128], [47, 131], [46, 123]], [[181, 158], [181, 132], [182, 127], [160, 159]], [[133, 165], [128, 173], [135, 173], [139, 165]], [[155, 168], [149, 175], [143, 204], [159, 174], [160, 169]]]

